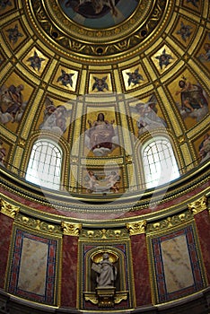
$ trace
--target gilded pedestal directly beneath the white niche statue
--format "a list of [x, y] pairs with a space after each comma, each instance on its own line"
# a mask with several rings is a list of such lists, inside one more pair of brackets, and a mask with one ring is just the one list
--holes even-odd
[[98, 306], [100, 308], [113, 308], [115, 305], [115, 287], [97, 287]]

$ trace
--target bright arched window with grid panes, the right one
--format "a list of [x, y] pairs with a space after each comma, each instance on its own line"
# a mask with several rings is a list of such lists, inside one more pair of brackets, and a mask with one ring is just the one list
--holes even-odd
[[142, 152], [146, 188], [155, 188], [179, 178], [177, 161], [166, 137], [149, 140]]

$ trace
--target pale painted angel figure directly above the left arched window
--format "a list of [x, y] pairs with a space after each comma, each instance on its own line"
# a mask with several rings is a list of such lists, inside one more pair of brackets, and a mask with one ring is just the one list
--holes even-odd
[[66, 118], [69, 117], [69, 110], [65, 106], [55, 106], [48, 97], [45, 100], [45, 110], [43, 122], [39, 129], [48, 130], [62, 135], [66, 132]]

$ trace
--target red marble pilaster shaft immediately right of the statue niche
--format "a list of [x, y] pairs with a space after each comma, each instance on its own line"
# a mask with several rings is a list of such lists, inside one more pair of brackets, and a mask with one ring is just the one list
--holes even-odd
[[133, 269], [136, 289], [136, 306], [152, 303], [149, 265], [147, 258], [145, 235], [131, 237]]

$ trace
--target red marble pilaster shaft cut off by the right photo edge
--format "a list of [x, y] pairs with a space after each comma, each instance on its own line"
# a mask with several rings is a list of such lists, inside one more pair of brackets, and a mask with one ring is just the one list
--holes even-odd
[[207, 282], [210, 284], [210, 218], [207, 210], [196, 214], [195, 221], [197, 223], [197, 233], [202, 250], [204, 266], [206, 267]]

